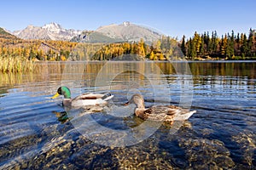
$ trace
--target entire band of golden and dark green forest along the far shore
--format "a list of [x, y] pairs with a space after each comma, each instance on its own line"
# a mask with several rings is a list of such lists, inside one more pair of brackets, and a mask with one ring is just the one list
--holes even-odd
[[136, 54], [138, 59], [256, 59], [256, 32], [248, 35], [234, 31], [218, 37], [217, 31], [193, 37], [162, 36], [152, 44], [139, 42], [82, 43], [53, 40], [22, 40], [0, 32], [0, 57], [29, 60], [109, 60], [125, 54]]

